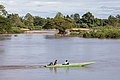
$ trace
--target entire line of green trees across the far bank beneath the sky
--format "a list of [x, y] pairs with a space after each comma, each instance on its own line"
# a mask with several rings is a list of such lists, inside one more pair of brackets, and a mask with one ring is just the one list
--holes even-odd
[[[106, 30], [106, 28], [108, 28], [109, 26], [112, 26], [112, 28], [114, 29], [119, 28], [120, 15], [117, 16], [110, 15], [107, 19], [99, 19], [95, 18], [94, 15], [90, 12], [87, 12], [82, 16], [80, 16], [78, 13], [65, 16], [61, 12], [58, 12], [54, 18], [49, 17], [42, 18], [40, 16], [33, 16], [30, 13], [27, 13], [25, 16], [21, 17], [19, 16], [19, 14], [9, 14], [5, 10], [5, 7], [3, 5], [0, 5], [0, 33], [21, 33], [22, 32], [21, 28], [27, 28], [30, 30], [58, 29], [59, 34], [65, 34], [66, 29], [69, 28], [97, 29], [102, 27], [102, 29]], [[100, 32], [103, 30], [97, 30], [94, 33], [98, 31]], [[93, 35], [92, 34], [93, 32], [85, 33], [86, 35], [90, 33], [91, 33], [90, 35]]]

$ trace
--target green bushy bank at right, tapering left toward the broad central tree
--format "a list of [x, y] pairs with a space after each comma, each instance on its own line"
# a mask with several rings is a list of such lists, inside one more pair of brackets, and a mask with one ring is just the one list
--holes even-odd
[[71, 36], [80, 36], [83, 38], [107, 38], [107, 39], [120, 39], [119, 27], [100, 27], [92, 31], [77, 31], [71, 32]]

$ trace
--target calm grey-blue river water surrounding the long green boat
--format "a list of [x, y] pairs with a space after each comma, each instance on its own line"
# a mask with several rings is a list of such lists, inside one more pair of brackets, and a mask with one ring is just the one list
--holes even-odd
[[0, 70], [0, 80], [119, 80], [120, 40], [56, 38], [52, 34], [0, 36], [0, 66], [94, 61], [86, 68]]

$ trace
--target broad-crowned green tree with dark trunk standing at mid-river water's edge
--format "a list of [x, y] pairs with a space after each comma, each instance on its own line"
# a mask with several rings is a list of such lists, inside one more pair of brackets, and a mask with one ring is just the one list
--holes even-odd
[[66, 34], [66, 29], [75, 27], [75, 21], [69, 18], [51, 18], [43, 28], [45, 29], [58, 29], [59, 34]]

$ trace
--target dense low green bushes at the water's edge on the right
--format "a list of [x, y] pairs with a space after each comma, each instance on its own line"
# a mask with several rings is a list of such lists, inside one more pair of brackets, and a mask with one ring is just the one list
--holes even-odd
[[81, 35], [87, 38], [120, 38], [120, 28], [114, 27], [101, 27], [96, 31], [90, 31]]

